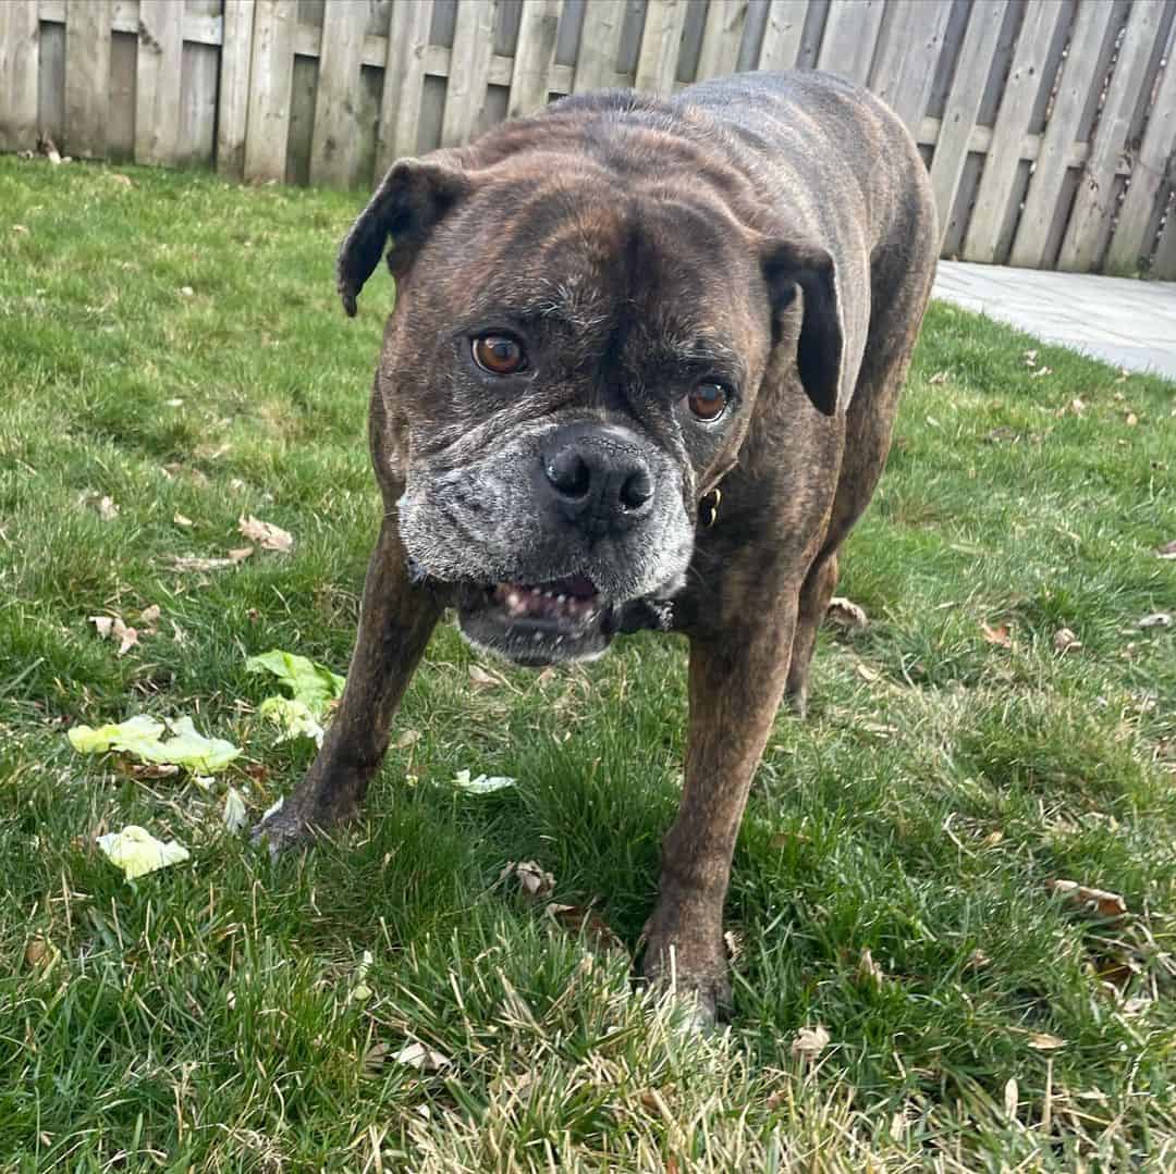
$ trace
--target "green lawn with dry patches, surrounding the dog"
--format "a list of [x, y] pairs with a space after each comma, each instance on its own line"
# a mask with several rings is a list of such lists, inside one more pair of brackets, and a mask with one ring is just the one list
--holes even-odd
[[[361, 825], [278, 865], [221, 826], [226, 785], [256, 817], [309, 758], [246, 657], [345, 670], [379, 522], [390, 291], [349, 324], [330, 273], [355, 206], [0, 160], [0, 1168], [1172, 1168], [1176, 643], [1138, 628], [1176, 603], [1172, 385], [933, 307], [844, 558], [871, 622], [822, 633], [811, 717], [776, 725], [734, 1021], [695, 1039], [499, 883], [536, 860], [635, 945], [673, 640], [480, 685], [443, 626]], [[242, 514], [294, 552], [172, 568], [241, 545]], [[122, 657], [87, 622], [153, 604]], [[206, 791], [66, 740], [135, 712], [245, 754]], [[463, 767], [519, 784], [467, 797]], [[132, 823], [192, 860], [123, 881], [94, 841]], [[1130, 912], [1091, 920], [1055, 878]], [[397, 1062], [413, 1041], [449, 1062]]]

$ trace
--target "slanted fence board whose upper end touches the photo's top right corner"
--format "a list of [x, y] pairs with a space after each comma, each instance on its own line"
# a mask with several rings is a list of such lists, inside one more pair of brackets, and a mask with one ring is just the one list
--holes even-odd
[[1062, 239], [1060, 269], [1093, 269], [1098, 261], [1115, 214], [1115, 167], [1127, 147], [1136, 107], [1155, 76], [1163, 51], [1161, 27], [1168, 27], [1170, 18], [1170, 5], [1131, 5], [1090, 157]]

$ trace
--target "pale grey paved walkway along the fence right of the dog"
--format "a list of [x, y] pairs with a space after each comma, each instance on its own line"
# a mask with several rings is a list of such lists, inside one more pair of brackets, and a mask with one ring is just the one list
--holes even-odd
[[1116, 367], [1176, 380], [1176, 282], [941, 261], [935, 296]]

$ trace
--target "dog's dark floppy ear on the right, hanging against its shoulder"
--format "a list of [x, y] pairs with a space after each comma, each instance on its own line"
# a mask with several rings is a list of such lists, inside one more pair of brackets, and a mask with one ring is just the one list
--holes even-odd
[[846, 330], [837, 274], [829, 253], [818, 244], [773, 241], [763, 254], [763, 275], [771, 298], [773, 330], [800, 288], [804, 318], [796, 347], [801, 383], [817, 411], [833, 416], [849, 403], [846, 380]]

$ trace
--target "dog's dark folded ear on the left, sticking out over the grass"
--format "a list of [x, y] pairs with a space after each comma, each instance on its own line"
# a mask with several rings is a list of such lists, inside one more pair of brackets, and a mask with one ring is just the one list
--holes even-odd
[[355, 298], [380, 263], [388, 237], [388, 268], [399, 276], [408, 271], [437, 221], [468, 190], [466, 173], [450, 163], [402, 159], [392, 165], [339, 250], [339, 296], [349, 317], [355, 316]]

